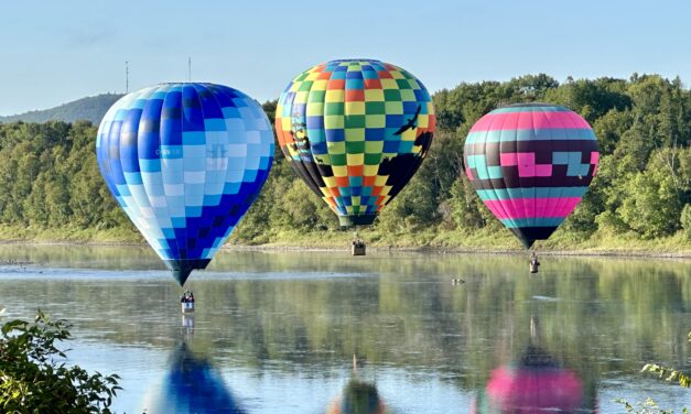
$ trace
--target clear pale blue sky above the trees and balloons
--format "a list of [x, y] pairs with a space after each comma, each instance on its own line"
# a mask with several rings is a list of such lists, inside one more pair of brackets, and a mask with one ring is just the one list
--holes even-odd
[[187, 78], [263, 101], [333, 58], [401, 66], [431, 92], [547, 73], [691, 81], [691, 2], [2, 1], [0, 115]]

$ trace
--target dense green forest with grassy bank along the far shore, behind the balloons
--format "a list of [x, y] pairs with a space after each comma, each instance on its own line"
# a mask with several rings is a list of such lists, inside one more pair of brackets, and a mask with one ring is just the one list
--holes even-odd
[[[541, 101], [584, 117], [602, 156], [583, 201], [540, 248], [691, 249], [691, 90], [679, 78], [559, 83], [526, 75], [462, 83], [436, 91], [433, 101], [438, 130], [425, 161], [375, 225], [360, 230], [374, 246], [518, 249], [463, 174], [463, 144], [488, 111]], [[276, 101], [263, 108], [273, 119]], [[87, 121], [0, 124], [0, 238], [143, 240], [99, 174], [97, 128]], [[350, 236], [277, 148], [269, 179], [230, 242], [333, 247]]]

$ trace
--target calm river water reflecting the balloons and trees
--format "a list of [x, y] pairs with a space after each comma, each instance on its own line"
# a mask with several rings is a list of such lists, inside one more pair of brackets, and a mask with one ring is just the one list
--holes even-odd
[[691, 370], [689, 260], [543, 257], [529, 275], [526, 255], [222, 252], [190, 317], [148, 249], [6, 244], [0, 262], [6, 319], [69, 320], [71, 362], [122, 378], [118, 413], [691, 407], [639, 373]]

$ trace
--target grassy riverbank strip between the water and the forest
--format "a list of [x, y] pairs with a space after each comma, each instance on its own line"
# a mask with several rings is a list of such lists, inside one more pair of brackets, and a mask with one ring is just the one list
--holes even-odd
[[[358, 231], [369, 252], [429, 252], [434, 254], [487, 253], [526, 254], [526, 250], [508, 231], [460, 231], [430, 229], [406, 233], [385, 233], [377, 229]], [[231, 236], [224, 249], [258, 251], [346, 251], [350, 248], [353, 231], [296, 230], [269, 231], [252, 240]], [[147, 246], [131, 229], [36, 229], [32, 227], [0, 226], [0, 243], [29, 244], [89, 244]], [[673, 237], [643, 240], [634, 235], [612, 236], [594, 233], [579, 239], [558, 231], [550, 240], [535, 246], [540, 254], [549, 255], [619, 255], [691, 258], [691, 241], [682, 232]]]

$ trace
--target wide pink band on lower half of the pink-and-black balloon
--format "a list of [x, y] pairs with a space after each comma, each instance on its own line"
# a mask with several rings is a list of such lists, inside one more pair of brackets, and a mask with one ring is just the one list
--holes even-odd
[[579, 201], [581, 201], [581, 197], [511, 198], [485, 200], [484, 203], [501, 220], [506, 218], [566, 217], [579, 205]]

